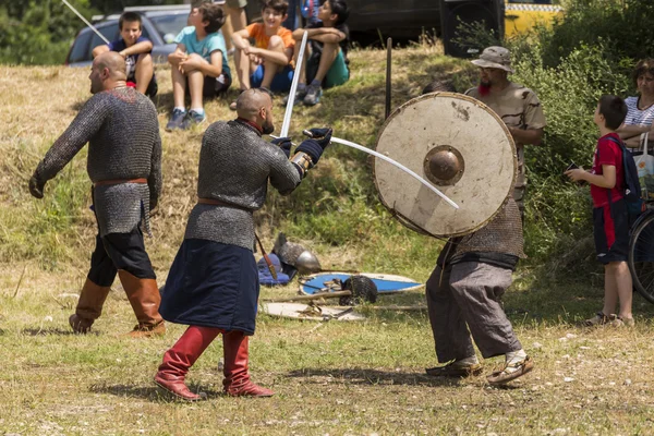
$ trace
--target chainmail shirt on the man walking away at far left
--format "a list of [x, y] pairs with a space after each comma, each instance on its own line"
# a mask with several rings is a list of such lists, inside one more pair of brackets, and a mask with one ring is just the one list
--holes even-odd
[[157, 203], [161, 192], [161, 137], [155, 105], [131, 87], [94, 95], [52, 144], [36, 178], [43, 182], [55, 178], [86, 143], [86, 170], [94, 183], [140, 178], [148, 182], [95, 187], [100, 237], [129, 233], [142, 220], [149, 233], [149, 205]]

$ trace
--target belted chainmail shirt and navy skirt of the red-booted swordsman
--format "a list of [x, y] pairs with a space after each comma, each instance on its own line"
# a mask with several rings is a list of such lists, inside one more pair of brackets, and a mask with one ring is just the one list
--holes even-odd
[[264, 205], [268, 181], [286, 195], [302, 177], [250, 123], [219, 121], [207, 129], [197, 196], [208, 202], [196, 204], [189, 217], [162, 292], [165, 319], [254, 334], [259, 287], [253, 213]]

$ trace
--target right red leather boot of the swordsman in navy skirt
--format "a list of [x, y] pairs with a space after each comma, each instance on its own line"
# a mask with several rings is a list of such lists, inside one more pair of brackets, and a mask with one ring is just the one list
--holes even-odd
[[249, 339], [243, 331], [232, 330], [222, 335], [225, 350], [225, 393], [231, 397], [272, 397], [270, 389], [255, 385], [247, 371]]

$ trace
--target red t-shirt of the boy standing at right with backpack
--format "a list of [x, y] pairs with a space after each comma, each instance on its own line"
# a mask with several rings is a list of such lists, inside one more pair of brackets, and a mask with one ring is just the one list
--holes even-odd
[[[613, 136], [620, 141], [617, 133], [609, 133], [597, 141], [597, 148], [593, 157], [593, 174], [603, 174], [602, 166], [610, 165], [616, 167], [616, 185], [610, 190], [611, 201], [617, 202], [625, 197], [625, 168], [622, 167], [622, 149], [608, 137]], [[591, 197], [593, 206], [602, 207], [608, 204], [608, 190], [591, 184]]]

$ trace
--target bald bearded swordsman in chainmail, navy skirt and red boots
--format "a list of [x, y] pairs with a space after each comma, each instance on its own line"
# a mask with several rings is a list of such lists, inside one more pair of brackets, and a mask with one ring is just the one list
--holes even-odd
[[247, 371], [249, 336], [254, 335], [259, 292], [253, 213], [264, 205], [268, 181], [281, 194], [290, 194], [331, 137], [330, 129], [313, 129], [316, 138], [304, 141], [289, 160], [289, 138], [272, 143], [262, 138], [274, 131], [272, 101], [266, 89], [241, 94], [237, 112], [237, 120], [216, 122], [204, 134], [198, 202], [162, 292], [164, 318], [190, 327], [164, 354], [155, 383], [189, 401], [201, 396], [189, 390], [184, 378], [218, 335], [223, 340], [225, 392], [272, 395], [252, 383]]

